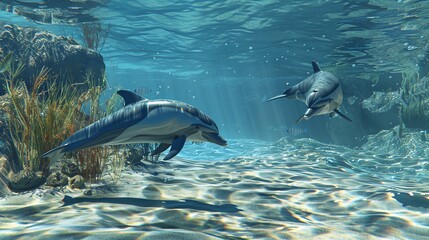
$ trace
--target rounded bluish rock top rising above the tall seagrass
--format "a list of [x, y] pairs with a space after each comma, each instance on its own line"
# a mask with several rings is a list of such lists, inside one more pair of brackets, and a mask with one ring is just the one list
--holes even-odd
[[[15, 63], [21, 61], [25, 68], [20, 74], [27, 86], [31, 87], [34, 76], [42, 67], [52, 70], [58, 79], [72, 83], [84, 83], [87, 74], [102, 85], [105, 65], [103, 57], [79, 45], [72, 38], [57, 36], [37, 28], [2, 24], [0, 27], [0, 54], [13, 52]], [[81, 91], [87, 86], [82, 84]], [[4, 89], [0, 89], [0, 94]]]

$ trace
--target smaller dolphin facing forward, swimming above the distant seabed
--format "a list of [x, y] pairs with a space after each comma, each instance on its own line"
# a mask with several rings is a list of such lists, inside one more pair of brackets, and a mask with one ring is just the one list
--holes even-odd
[[322, 71], [315, 61], [312, 61], [311, 64], [314, 71], [311, 76], [290, 87], [283, 94], [268, 99], [267, 102], [279, 98], [303, 101], [307, 104], [308, 109], [296, 120], [296, 123], [316, 115], [329, 114], [332, 117], [335, 113], [351, 122], [350, 118], [338, 110], [343, 101], [343, 90], [338, 78], [330, 72]]

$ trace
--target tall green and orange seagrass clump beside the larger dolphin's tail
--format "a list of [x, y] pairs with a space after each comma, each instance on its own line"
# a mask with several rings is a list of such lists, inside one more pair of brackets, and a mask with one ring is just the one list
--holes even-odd
[[[47, 177], [49, 159], [39, 156], [103, 115], [99, 97], [105, 84], [96, 85], [98, 81], [88, 72], [85, 84], [89, 90], [79, 95], [78, 85], [59, 81], [49, 69], [42, 68], [29, 91], [18, 79], [22, 70], [23, 65], [19, 63], [4, 73], [8, 103], [3, 104], [2, 110], [6, 112], [11, 145], [17, 155], [9, 161], [15, 171], [42, 171]], [[85, 104], [90, 105], [89, 115], [81, 111]], [[106, 147], [72, 154], [87, 180], [99, 179], [108, 155]]]

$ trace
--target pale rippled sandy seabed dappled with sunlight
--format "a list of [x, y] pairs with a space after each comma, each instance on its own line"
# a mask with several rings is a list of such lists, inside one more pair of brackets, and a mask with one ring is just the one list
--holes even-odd
[[251, 143], [233, 143], [228, 160], [201, 160], [206, 146], [189, 147], [182, 157], [194, 159], [124, 171], [115, 185], [94, 185], [92, 196], [9, 196], [0, 200], [0, 237], [429, 239], [424, 159], [308, 140]]

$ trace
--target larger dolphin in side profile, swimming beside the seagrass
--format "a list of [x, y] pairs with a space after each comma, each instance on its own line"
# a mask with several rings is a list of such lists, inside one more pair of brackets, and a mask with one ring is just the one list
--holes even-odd
[[103, 145], [161, 143], [152, 155], [170, 148], [164, 157], [176, 156], [186, 140], [226, 146], [213, 120], [197, 108], [174, 100], [148, 100], [133, 92], [117, 92], [125, 107], [75, 132], [59, 147], [44, 153], [54, 162], [65, 153]]

